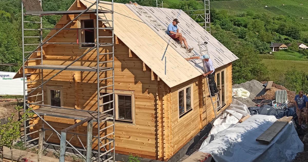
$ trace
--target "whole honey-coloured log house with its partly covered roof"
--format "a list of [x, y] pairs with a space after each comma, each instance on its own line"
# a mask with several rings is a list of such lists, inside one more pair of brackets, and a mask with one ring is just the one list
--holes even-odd
[[[93, 3], [92, 0], [76, 0], [69, 10], [84, 10]], [[108, 8], [104, 4], [99, 4]], [[222, 110], [232, 101], [232, 61], [238, 59], [225, 48], [212, 35], [194, 22], [182, 10], [155, 8], [141, 6], [147, 10], [152, 18], [160, 21], [162, 28], [167, 28], [172, 19], [179, 19], [180, 32], [193, 47], [187, 53], [179, 44], [168, 37], [164, 30], [157, 29], [146, 16], [138, 13], [138, 8], [132, 4], [114, 4], [114, 64], [115, 64], [115, 150], [116, 153], [138, 155], [148, 159], [168, 161], [189, 140], [197, 135], [214, 118], [214, 110], [206, 79], [202, 76], [203, 66], [200, 60], [186, 61], [185, 57], [200, 55], [197, 39], [205, 39], [209, 44], [210, 58], [214, 62], [216, 82], [220, 90]], [[180, 15], [180, 16], [179, 16]], [[76, 15], [64, 15], [55, 25], [63, 27]], [[107, 19], [104, 15], [99, 15]], [[94, 27], [95, 16], [84, 14], [69, 28]], [[107, 26], [101, 23], [100, 27]], [[49, 38], [56, 30], [52, 30]], [[101, 36], [110, 35], [111, 31], [101, 32]], [[93, 31], [92, 31], [93, 33]], [[45, 38], [45, 40], [47, 39]], [[87, 39], [87, 40], [86, 40]], [[85, 42], [95, 35], [87, 31], [63, 30], [51, 42]], [[100, 41], [111, 43], [112, 40]], [[43, 46], [43, 64], [63, 66], [71, 63], [82, 55], [89, 46], [81, 44], [48, 44]], [[109, 52], [109, 47], [100, 47], [100, 52]], [[74, 66], [96, 66], [96, 51], [89, 52]], [[34, 53], [30, 58], [39, 58], [40, 53]], [[110, 56], [100, 56], [101, 61], [110, 60]], [[41, 60], [29, 60], [27, 65], [38, 65]], [[106, 63], [109, 64], [109, 63]], [[37, 73], [40, 69], [26, 69], [25, 73]], [[47, 80], [59, 70], [43, 69], [43, 79]], [[44, 102], [71, 109], [95, 110], [97, 108], [97, 90], [95, 72], [80, 72], [65, 70], [43, 86], [45, 92]], [[111, 71], [104, 73], [105, 77]], [[22, 70], [15, 78], [22, 77]], [[40, 78], [41, 75], [31, 75], [27, 81]], [[28, 83], [28, 88], [38, 86], [40, 83]], [[112, 79], [103, 81], [104, 85], [112, 84]], [[108, 93], [102, 90], [100, 93]], [[59, 94], [59, 95], [56, 95]], [[28, 98], [29, 102], [38, 101], [39, 97]], [[106, 97], [101, 102], [108, 102], [112, 98]], [[214, 99], [213, 99], [214, 100]], [[112, 103], [111, 103], [112, 104]], [[112, 107], [105, 105], [103, 110]], [[216, 105], [215, 105], [216, 106]], [[33, 109], [39, 106], [34, 106]], [[221, 111], [221, 110], [220, 110]], [[217, 112], [218, 113], [218, 112]], [[57, 117], [45, 117], [45, 120], [57, 130], [77, 123], [77, 120]], [[33, 120], [36, 124], [31, 131], [42, 127], [39, 119]], [[111, 122], [107, 121], [108, 126]], [[97, 128], [97, 126], [96, 126]], [[93, 129], [95, 131], [96, 129]], [[86, 133], [86, 125], [79, 126], [75, 132]], [[104, 135], [109, 134], [109, 129]], [[97, 132], [96, 132], [97, 133]], [[45, 138], [51, 134], [46, 131]], [[33, 134], [32, 136], [37, 136]], [[67, 138], [70, 138], [69, 136]], [[81, 138], [86, 140], [86, 138]], [[52, 143], [59, 143], [54, 134], [49, 139]], [[78, 139], [73, 138], [72, 143], [80, 147]], [[95, 148], [97, 142], [93, 143]]]

